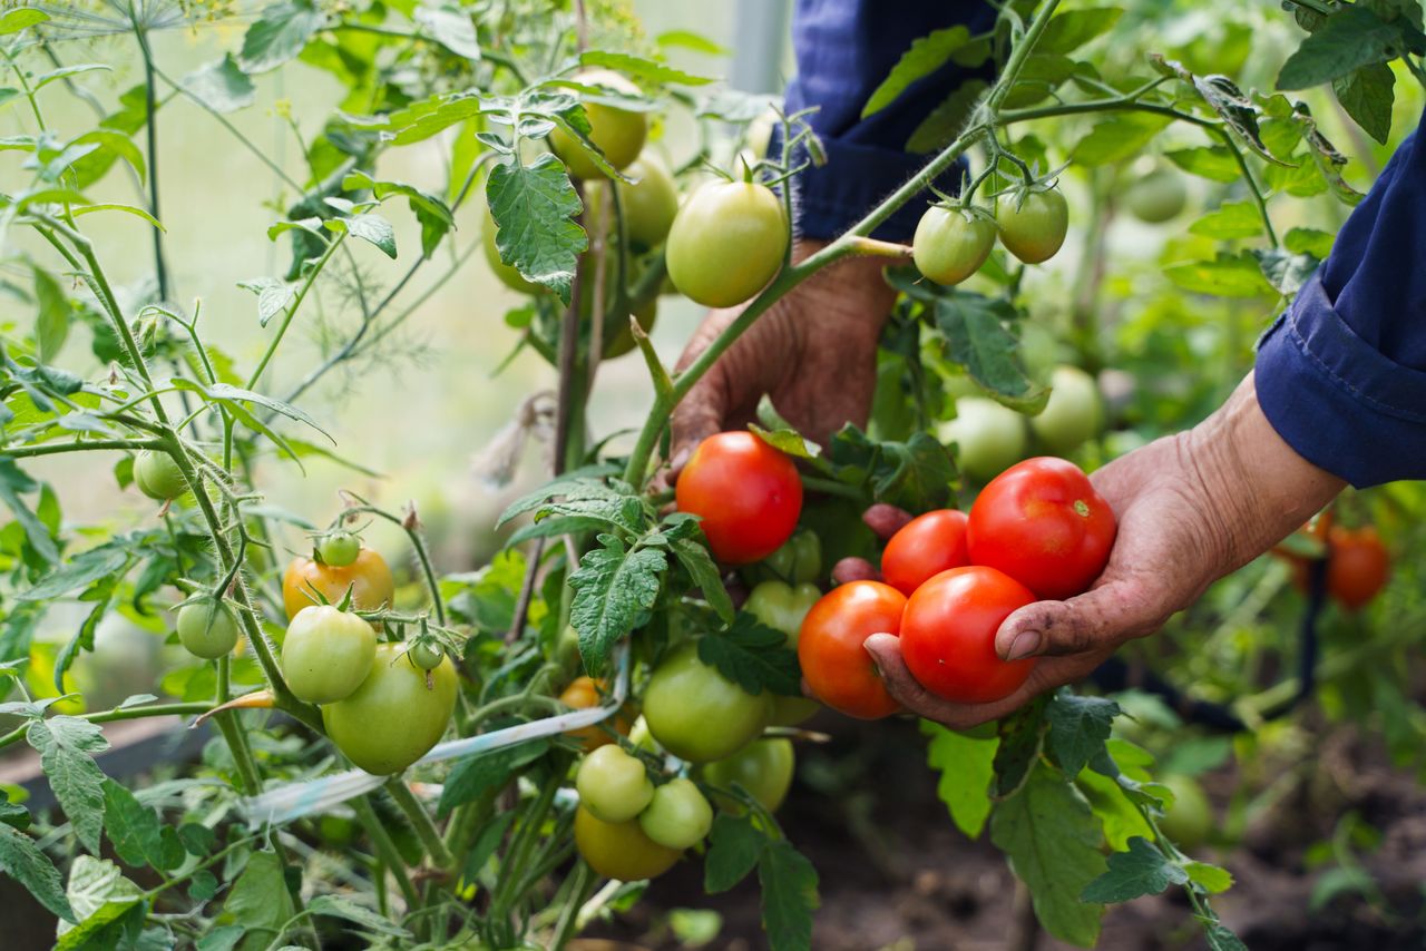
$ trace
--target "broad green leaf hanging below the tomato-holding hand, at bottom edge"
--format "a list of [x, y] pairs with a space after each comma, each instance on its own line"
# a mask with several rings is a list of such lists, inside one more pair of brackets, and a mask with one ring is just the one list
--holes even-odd
[[1035, 917], [1051, 935], [1079, 947], [1099, 937], [1104, 908], [1082, 904], [1085, 885], [1107, 868], [1099, 826], [1075, 787], [1040, 763], [991, 817], [991, 841], [1030, 888]]

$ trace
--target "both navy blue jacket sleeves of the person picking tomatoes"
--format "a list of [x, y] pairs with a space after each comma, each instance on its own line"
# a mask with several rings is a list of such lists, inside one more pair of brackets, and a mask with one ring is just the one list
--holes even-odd
[[[787, 108], [817, 106], [827, 164], [799, 178], [799, 227], [833, 238], [906, 181], [924, 155], [906, 151], [921, 120], [964, 78], [947, 64], [887, 108], [861, 107], [913, 40], [994, 21], [981, 0], [797, 0], [797, 77]], [[1426, 478], [1426, 143], [1412, 135], [1338, 235], [1328, 261], [1258, 349], [1258, 401], [1308, 461], [1355, 486]], [[960, 173], [938, 183], [954, 190]], [[924, 211], [911, 201], [877, 237], [907, 240]]]

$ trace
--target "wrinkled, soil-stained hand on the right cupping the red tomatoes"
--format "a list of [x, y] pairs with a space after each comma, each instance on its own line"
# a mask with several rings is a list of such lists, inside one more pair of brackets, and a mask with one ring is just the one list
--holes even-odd
[[965, 729], [1085, 677], [1119, 644], [1156, 632], [1212, 582], [1281, 542], [1343, 488], [1278, 436], [1258, 406], [1252, 375], [1199, 426], [1115, 459], [1089, 480], [1118, 519], [1109, 563], [1089, 592], [1027, 605], [1000, 626], [1001, 657], [1041, 657], [1014, 694], [973, 706], [943, 700], [911, 677], [897, 637], [867, 639], [887, 689], [908, 710]]

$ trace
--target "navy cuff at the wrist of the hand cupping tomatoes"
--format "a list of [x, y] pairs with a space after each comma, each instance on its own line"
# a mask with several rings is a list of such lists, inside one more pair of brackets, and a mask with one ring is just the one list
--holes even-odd
[[1313, 465], [1356, 488], [1426, 479], [1426, 374], [1358, 336], [1320, 277], [1263, 334], [1255, 382], [1268, 422]]

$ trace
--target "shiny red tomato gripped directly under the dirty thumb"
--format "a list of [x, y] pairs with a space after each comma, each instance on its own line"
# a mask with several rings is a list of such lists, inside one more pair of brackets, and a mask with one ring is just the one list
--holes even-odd
[[1001, 660], [995, 632], [1017, 607], [1035, 600], [1028, 587], [994, 567], [953, 567], [915, 589], [901, 619], [901, 656], [923, 687], [955, 703], [990, 703], [1012, 694], [1034, 657]]

